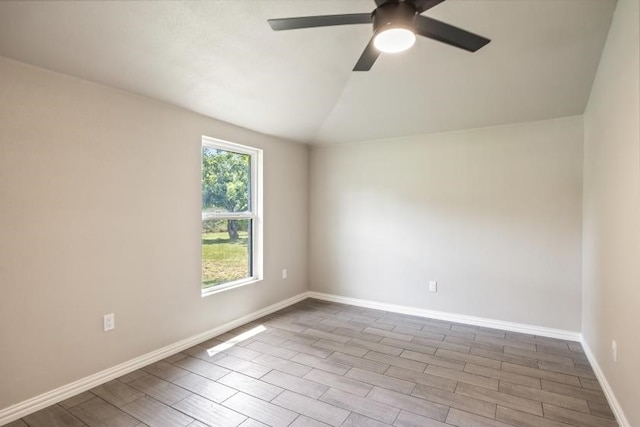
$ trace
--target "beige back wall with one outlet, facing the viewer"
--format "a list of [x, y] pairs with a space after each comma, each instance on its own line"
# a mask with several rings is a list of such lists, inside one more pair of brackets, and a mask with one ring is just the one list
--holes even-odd
[[311, 290], [579, 331], [582, 139], [571, 117], [314, 147]]

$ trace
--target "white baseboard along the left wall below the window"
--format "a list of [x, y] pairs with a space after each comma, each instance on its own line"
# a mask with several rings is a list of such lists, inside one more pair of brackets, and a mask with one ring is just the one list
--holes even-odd
[[131, 359], [119, 365], [105, 369], [104, 371], [89, 375], [88, 377], [82, 378], [78, 381], [63, 385], [54, 390], [45, 392], [39, 396], [9, 406], [8, 408], [0, 409], [0, 425], [5, 425], [7, 423], [10, 423], [11, 421], [15, 421], [40, 409], [46, 408], [47, 406], [75, 396], [78, 393], [90, 390], [100, 384], [106, 383], [107, 381], [111, 381], [115, 378], [121, 377], [122, 375], [128, 374], [129, 372], [135, 371], [136, 369], [140, 369], [151, 363], [176, 354], [182, 350], [186, 350], [189, 347], [193, 347], [194, 345], [197, 345], [203, 341], [224, 334], [225, 332], [228, 332], [253, 320], [259, 319], [260, 317], [266, 316], [267, 314], [274, 313], [308, 297], [308, 292], [303, 292], [291, 298], [287, 298], [283, 301], [255, 311], [251, 314], [243, 316], [239, 319], [225, 323], [224, 325], [170, 344], [166, 347], [162, 347], [150, 353], [143, 354], [142, 356], [136, 357], [135, 359]]

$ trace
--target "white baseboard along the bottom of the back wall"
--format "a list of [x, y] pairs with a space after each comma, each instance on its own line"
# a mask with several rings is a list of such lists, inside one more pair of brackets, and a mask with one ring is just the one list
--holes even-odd
[[510, 332], [538, 335], [549, 338], [559, 338], [568, 341], [580, 341], [580, 332], [566, 331], [563, 329], [546, 328], [543, 326], [527, 325], [524, 323], [505, 322], [502, 320], [486, 319], [484, 317], [466, 316], [463, 314], [447, 313], [444, 311], [427, 310], [424, 308], [408, 307], [404, 305], [387, 304], [378, 301], [348, 298], [320, 292], [308, 292], [309, 298], [317, 298], [325, 301], [341, 304], [355, 305], [358, 307], [373, 308], [376, 310], [390, 311], [393, 313], [409, 314], [412, 316], [429, 317], [431, 319], [445, 320], [448, 322], [464, 323], [467, 325], [483, 326], [485, 328], [501, 329]]

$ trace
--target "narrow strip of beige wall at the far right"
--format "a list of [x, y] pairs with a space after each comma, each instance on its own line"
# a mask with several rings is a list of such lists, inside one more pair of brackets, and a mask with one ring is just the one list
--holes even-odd
[[618, 0], [584, 115], [582, 332], [632, 426], [640, 425], [638, 17], [638, 0]]

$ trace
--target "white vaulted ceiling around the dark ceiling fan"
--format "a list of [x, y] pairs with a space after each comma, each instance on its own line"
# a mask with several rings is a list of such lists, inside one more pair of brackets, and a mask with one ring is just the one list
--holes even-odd
[[341, 143], [582, 114], [615, 0], [448, 0], [425, 15], [492, 39], [419, 37], [352, 72], [371, 26], [274, 32], [267, 18], [371, 0], [0, 1], [0, 56], [266, 134]]

